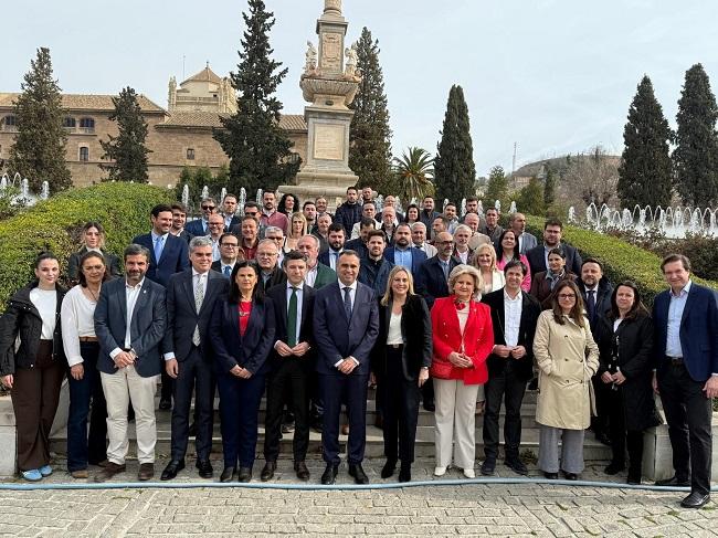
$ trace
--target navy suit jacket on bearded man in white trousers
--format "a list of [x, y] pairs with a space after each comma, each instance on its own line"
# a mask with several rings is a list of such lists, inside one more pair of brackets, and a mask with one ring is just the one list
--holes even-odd
[[[179, 241], [179, 240], [178, 240]], [[109, 352], [125, 347], [127, 328], [127, 296], [125, 278], [115, 278], [103, 284], [95, 308], [95, 334], [99, 340], [97, 369], [115, 373], [115, 361]], [[167, 328], [165, 288], [145, 278], [139, 291], [130, 321], [131, 349], [137, 354], [135, 369], [144, 378], [158, 376], [162, 369], [159, 345]]]

